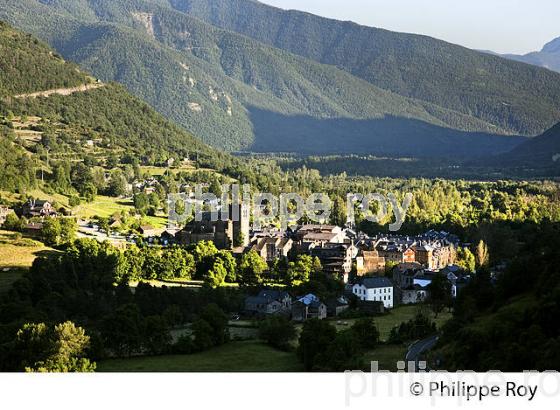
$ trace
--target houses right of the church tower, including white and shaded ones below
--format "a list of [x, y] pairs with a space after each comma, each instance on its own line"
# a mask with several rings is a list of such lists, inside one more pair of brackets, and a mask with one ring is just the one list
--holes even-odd
[[[451, 297], [456, 297], [470, 280], [454, 265], [459, 244], [456, 236], [437, 231], [413, 237], [368, 237], [337, 226], [304, 225], [288, 232], [257, 232], [247, 249], [255, 250], [269, 262], [288, 258], [292, 251], [316, 256], [325, 273], [345, 281], [346, 291], [337, 299], [323, 302], [315, 295], [292, 298], [286, 292], [262, 290], [247, 298], [245, 312], [284, 314], [296, 321], [324, 319], [348, 309], [350, 298], [356, 298], [361, 309], [380, 312], [425, 301], [437, 274], [446, 276]], [[385, 276], [387, 266], [393, 267]]]

